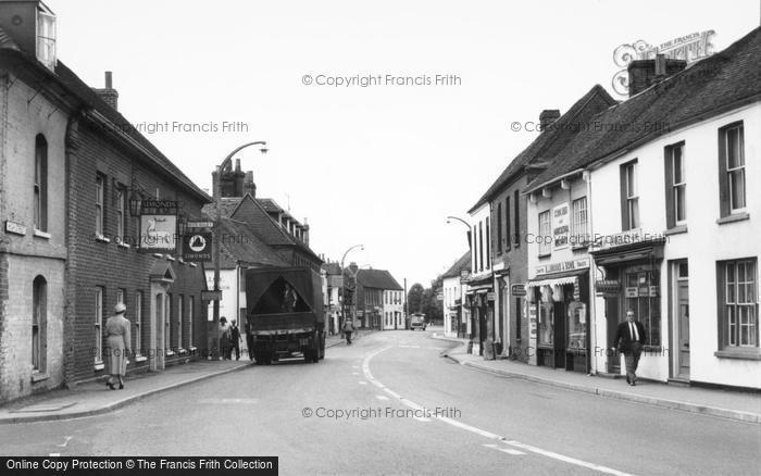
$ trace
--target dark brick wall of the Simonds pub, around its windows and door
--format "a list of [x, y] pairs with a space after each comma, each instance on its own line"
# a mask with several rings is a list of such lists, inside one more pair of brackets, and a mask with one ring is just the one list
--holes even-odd
[[[157, 260], [152, 253], [141, 253], [134, 246], [138, 241], [139, 223], [137, 217], [128, 216], [125, 240], [130, 247], [120, 246], [115, 239], [103, 242], [96, 239], [96, 177], [101, 174], [105, 177], [104, 192], [104, 235], [115, 237], [116, 214], [115, 200], [116, 187], [137, 185], [139, 189], [154, 197], [159, 189], [159, 197], [165, 200], [177, 200], [180, 205], [180, 214], [191, 217], [201, 216], [202, 203], [184, 188], [171, 181], [167, 177], [146, 162], [141, 155], [134, 154], [121, 145], [112, 141], [97, 126], [82, 122], [77, 134], [72, 136], [72, 148], [68, 158], [70, 181], [70, 228], [68, 228], [68, 267], [67, 267], [67, 298], [71, 303], [67, 312], [67, 348], [68, 365], [66, 377], [68, 380], [79, 380], [99, 375], [102, 371], [95, 369], [93, 349], [96, 347], [95, 330], [95, 296], [96, 287], [104, 289], [103, 321], [111, 314], [116, 304], [116, 293], [123, 289], [127, 305], [126, 317], [133, 322], [135, 333], [135, 297], [142, 291], [142, 343], [144, 354], [151, 352], [149, 342], [151, 303], [149, 273]], [[182, 165], [182, 164], [180, 164]], [[128, 210], [127, 210], [128, 215]], [[171, 262], [176, 279], [170, 286], [172, 295], [172, 315], [170, 318], [170, 337], [177, 335], [177, 300], [182, 296], [185, 300], [185, 327], [183, 335], [188, 336], [190, 324], [187, 322], [190, 297], [194, 297], [194, 340], [199, 351], [205, 350], [205, 321], [207, 308], [201, 305], [200, 291], [205, 289], [203, 268], [182, 263], [179, 260]], [[134, 341], [133, 337], [133, 341]], [[176, 341], [171, 341], [171, 347], [176, 347]], [[189, 347], [189, 342], [183, 347]], [[152, 350], [155, 351], [155, 350]], [[167, 359], [185, 359], [180, 355]], [[133, 362], [130, 367], [147, 366], [148, 362]]]

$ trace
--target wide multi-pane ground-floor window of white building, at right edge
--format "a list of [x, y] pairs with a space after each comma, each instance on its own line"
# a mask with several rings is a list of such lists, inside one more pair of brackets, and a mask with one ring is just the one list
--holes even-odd
[[722, 288], [720, 348], [758, 348], [756, 259], [720, 262], [719, 273]]

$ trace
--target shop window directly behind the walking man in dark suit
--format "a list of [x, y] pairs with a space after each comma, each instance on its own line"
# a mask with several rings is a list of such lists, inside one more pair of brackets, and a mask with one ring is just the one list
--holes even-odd
[[626, 315], [629, 309], [634, 311], [634, 320], [645, 326], [645, 345], [659, 347], [661, 345], [661, 298], [657, 273], [652, 271], [626, 273], [625, 283], [626, 303], [621, 315]]

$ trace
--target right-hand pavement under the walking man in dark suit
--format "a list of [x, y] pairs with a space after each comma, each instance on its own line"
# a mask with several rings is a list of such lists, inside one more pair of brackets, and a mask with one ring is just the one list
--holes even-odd
[[445, 351], [444, 355], [479, 371], [600, 397], [761, 424], [761, 393], [758, 392], [675, 386], [641, 379], [637, 380], [636, 387], [629, 387], [617, 378], [527, 365], [506, 359], [485, 361], [481, 355], [466, 352], [467, 339], [445, 337], [440, 333], [433, 334], [432, 338], [461, 343]]

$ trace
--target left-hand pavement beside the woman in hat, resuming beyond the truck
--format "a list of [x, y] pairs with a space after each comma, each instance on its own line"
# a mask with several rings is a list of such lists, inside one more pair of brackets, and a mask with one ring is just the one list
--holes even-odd
[[[360, 329], [352, 340], [359, 340], [370, 333]], [[325, 348], [337, 346], [346, 346], [346, 340], [339, 335], [325, 339]], [[249, 360], [242, 359], [244, 354], [246, 351], [241, 350], [240, 361], [194, 361], [162, 372], [129, 374], [123, 390], [108, 390], [105, 380], [98, 379], [75, 385], [71, 389], [15, 400], [0, 406], [0, 425], [82, 418], [113, 412], [149, 396], [251, 366]]]

